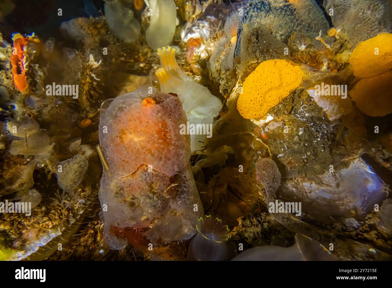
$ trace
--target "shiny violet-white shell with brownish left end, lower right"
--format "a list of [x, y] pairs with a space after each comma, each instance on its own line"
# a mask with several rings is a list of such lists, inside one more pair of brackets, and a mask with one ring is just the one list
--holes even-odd
[[[387, 197], [387, 188], [361, 160], [354, 160], [347, 169], [325, 172], [312, 179], [288, 179], [282, 184], [281, 196], [296, 198], [302, 211], [319, 221], [341, 216], [363, 219]], [[290, 195], [290, 196], [289, 196]]]

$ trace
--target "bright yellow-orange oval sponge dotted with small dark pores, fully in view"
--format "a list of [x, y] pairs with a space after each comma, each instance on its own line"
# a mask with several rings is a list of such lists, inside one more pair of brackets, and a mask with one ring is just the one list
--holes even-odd
[[290, 61], [264, 61], [245, 79], [237, 109], [246, 119], [259, 119], [297, 88], [302, 78], [301, 68]]

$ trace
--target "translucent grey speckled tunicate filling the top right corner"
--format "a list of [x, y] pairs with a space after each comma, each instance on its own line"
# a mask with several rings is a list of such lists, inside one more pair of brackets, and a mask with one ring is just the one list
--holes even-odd
[[353, 45], [381, 32], [392, 32], [389, 0], [326, 0], [324, 6], [327, 13], [333, 14], [332, 23], [337, 29], [345, 29]]

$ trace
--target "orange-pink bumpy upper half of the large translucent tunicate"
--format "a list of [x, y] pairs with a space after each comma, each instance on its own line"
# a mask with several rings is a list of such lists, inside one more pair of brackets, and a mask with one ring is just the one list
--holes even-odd
[[119, 96], [101, 110], [100, 143], [112, 176], [128, 176], [142, 164], [172, 176], [190, 157], [187, 136], [178, 133], [185, 119], [178, 98], [156, 92], [152, 98], [159, 104], [143, 109], [147, 90]]

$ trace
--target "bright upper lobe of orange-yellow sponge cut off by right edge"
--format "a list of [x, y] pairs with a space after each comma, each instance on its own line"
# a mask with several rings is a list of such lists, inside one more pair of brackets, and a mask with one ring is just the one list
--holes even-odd
[[392, 34], [380, 33], [360, 42], [350, 56], [354, 75], [374, 77], [392, 68]]

